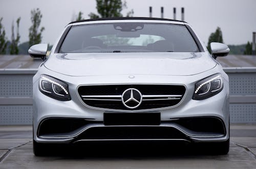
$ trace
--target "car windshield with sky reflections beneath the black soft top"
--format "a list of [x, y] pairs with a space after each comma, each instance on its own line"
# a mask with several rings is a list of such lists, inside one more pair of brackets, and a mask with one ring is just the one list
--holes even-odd
[[198, 52], [185, 25], [167, 23], [96, 23], [72, 26], [61, 53]]

